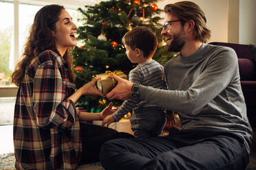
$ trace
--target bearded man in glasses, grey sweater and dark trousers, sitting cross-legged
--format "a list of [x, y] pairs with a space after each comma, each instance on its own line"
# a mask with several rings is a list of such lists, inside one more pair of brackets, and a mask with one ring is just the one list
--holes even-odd
[[178, 112], [182, 127], [169, 136], [105, 143], [105, 169], [245, 169], [252, 129], [233, 49], [206, 44], [211, 34], [198, 5], [164, 7], [162, 37], [180, 54], [164, 66], [169, 90], [118, 81], [109, 99], [137, 97]]

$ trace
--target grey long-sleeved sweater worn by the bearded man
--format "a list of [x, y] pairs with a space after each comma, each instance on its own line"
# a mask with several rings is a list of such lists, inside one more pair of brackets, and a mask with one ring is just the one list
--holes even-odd
[[202, 44], [191, 56], [179, 54], [169, 60], [164, 73], [169, 90], [140, 85], [140, 99], [178, 112], [181, 130], [215, 129], [237, 134], [250, 152], [253, 132], [233, 49]]

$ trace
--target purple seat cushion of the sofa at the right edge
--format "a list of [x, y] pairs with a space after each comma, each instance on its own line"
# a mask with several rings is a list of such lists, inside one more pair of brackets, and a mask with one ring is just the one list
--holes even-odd
[[256, 80], [256, 66], [253, 60], [238, 58], [240, 79], [242, 81]]

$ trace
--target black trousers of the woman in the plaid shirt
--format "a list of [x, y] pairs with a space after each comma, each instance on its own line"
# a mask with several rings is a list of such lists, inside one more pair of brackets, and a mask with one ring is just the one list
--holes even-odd
[[98, 162], [98, 155], [100, 153], [100, 147], [106, 141], [116, 138], [134, 138], [131, 134], [125, 132], [117, 132], [111, 128], [103, 127], [100, 125], [92, 125], [87, 123], [80, 123], [83, 155], [81, 158], [81, 164], [87, 164], [91, 162]]

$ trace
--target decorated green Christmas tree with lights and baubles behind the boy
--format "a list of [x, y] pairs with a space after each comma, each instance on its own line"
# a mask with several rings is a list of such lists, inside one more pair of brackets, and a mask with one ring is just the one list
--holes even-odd
[[[78, 21], [83, 26], [78, 27], [77, 34], [83, 45], [73, 50], [76, 88], [105, 71], [120, 70], [129, 74], [136, 65], [127, 58], [121, 40], [132, 27], [146, 26], [156, 33], [160, 43], [154, 60], [164, 64], [173, 57], [173, 53], [164, 49], [160, 36], [162, 25], [158, 14], [162, 10], [158, 9], [156, 0], [101, 1], [96, 5], [85, 5], [85, 9], [78, 8], [78, 11], [82, 14]], [[122, 104], [122, 101], [114, 102]], [[78, 104], [95, 112], [95, 108], [105, 108], [109, 101], [102, 97], [85, 96]]]

